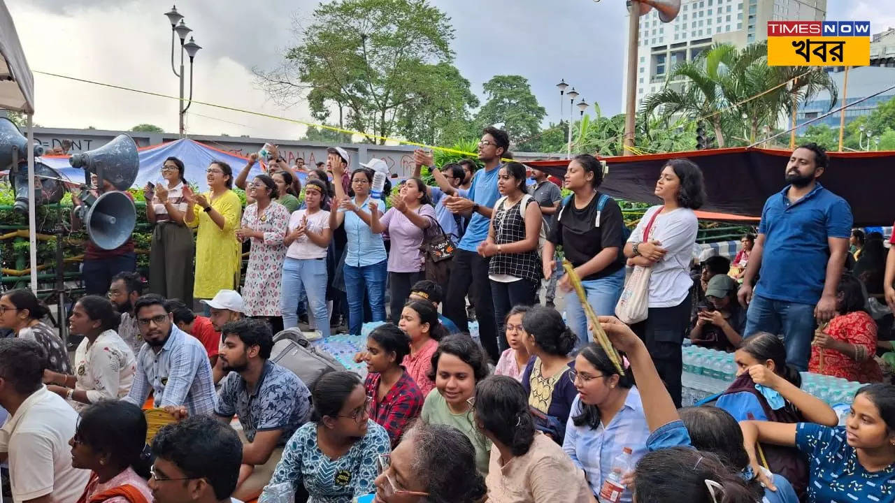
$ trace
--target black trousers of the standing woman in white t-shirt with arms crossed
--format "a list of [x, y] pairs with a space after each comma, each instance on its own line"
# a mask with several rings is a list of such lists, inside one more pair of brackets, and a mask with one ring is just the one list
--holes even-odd
[[684, 371], [681, 345], [684, 343], [687, 328], [690, 325], [690, 310], [693, 296], [687, 294], [686, 299], [673, 307], [650, 308], [646, 320], [631, 326], [640, 337], [652, 356], [652, 363], [659, 371], [659, 377], [665, 381], [674, 405], [680, 407], [680, 377]]

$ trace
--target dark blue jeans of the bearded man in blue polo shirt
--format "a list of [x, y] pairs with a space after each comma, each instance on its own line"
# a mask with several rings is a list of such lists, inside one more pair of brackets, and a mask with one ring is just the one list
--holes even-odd
[[758, 332], [783, 332], [786, 362], [799, 371], [808, 370], [811, 339], [814, 338], [814, 305], [775, 301], [753, 295], [746, 311], [746, 337]]

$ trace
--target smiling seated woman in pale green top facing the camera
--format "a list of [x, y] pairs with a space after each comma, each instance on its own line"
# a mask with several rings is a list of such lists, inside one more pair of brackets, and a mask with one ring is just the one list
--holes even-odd
[[475, 428], [472, 405], [475, 385], [488, 376], [487, 356], [482, 346], [464, 334], [448, 336], [439, 342], [438, 351], [431, 358], [430, 379], [435, 389], [429, 392], [422, 405], [420, 419], [429, 424], [447, 424], [463, 431], [475, 446], [475, 466], [482, 474], [488, 473], [491, 442]]

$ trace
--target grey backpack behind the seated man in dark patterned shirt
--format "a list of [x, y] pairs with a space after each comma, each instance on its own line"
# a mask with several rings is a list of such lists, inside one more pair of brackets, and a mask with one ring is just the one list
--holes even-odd
[[269, 360], [293, 371], [308, 389], [313, 389], [324, 374], [345, 370], [332, 355], [311, 345], [298, 328], [286, 328], [274, 336]]

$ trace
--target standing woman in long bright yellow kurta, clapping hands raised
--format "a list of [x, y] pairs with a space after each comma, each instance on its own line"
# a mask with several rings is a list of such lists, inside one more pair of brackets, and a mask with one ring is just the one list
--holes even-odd
[[196, 237], [196, 300], [210, 299], [219, 290], [235, 290], [240, 269], [240, 243], [236, 228], [243, 205], [233, 192], [233, 170], [223, 161], [212, 161], [207, 180], [209, 192], [183, 190], [189, 204], [186, 224], [199, 227]]

